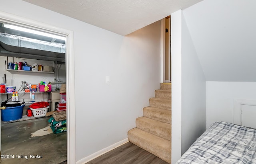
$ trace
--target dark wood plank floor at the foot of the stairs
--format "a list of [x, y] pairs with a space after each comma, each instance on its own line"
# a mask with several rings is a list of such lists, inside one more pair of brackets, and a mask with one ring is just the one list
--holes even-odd
[[86, 164], [168, 164], [130, 142], [91, 160]]

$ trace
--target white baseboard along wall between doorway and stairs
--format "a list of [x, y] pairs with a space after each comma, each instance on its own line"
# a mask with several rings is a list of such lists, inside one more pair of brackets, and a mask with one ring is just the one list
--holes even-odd
[[89, 156], [86, 156], [85, 158], [82, 158], [82, 159], [76, 161], [76, 164], [85, 164], [87, 162], [90, 162], [91, 160], [97, 158], [98, 156], [101, 156], [101, 155], [105, 154], [106, 152], [109, 152], [110, 150], [113, 150], [114, 148], [117, 148], [117, 147], [121, 146], [122, 144], [125, 144], [125, 143], [128, 143], [128, 142], [129, 142], [128, 138], [126, 138], [122, 141], [119, 141], [115, 144], [112, 144], [112, 145], [110, 145], [106, 148], [103, 148], [102, 150], [100, 150], [98, 152], [95, 152], [95, 153], [93, 153]]

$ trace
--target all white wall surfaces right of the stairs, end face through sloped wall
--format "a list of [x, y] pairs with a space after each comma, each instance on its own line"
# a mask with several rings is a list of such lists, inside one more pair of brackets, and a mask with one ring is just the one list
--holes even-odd
[[173, 163], [178, 144], [183, 153], [213, 122], [233, 122], [234, 99], [255, 100], [255, 3], [204, 0], [171, 14]]

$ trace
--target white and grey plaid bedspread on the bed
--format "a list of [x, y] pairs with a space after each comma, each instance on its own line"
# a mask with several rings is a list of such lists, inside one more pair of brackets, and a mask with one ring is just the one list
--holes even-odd
[[256, 130], [215, 122], [176, 164], [256, 164]]

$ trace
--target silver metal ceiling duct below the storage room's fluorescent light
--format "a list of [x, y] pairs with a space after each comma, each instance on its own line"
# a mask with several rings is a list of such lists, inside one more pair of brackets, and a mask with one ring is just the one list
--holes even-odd
[[0, 27], [0, 56], [65, 62], [65, 41], [57, 43], [51, 37], [26, 32], [20, 34], [20, 31]]

